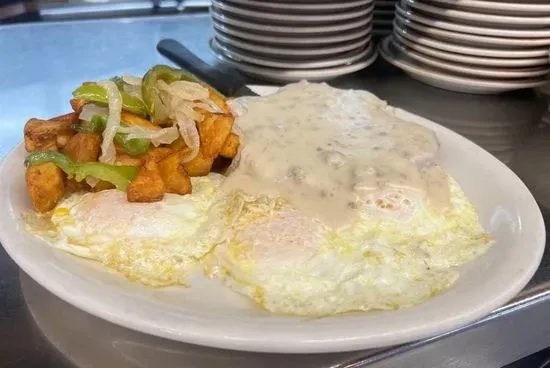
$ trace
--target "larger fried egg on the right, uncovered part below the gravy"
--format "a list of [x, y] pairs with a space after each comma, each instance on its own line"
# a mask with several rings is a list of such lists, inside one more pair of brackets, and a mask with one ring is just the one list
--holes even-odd
[[325, 316], [421, 303], [451, 286], [456, 267], [492, 243], [459, 185], [449, 183], [448, 211], [410, 196], [404, 219], [388, 213], [399, 208], [365, 201], [356, 222], [337, 230], [281, 197], [230, 194], [213, 207], [231, 235], [208, 256], [208, 272], [275, 313]]

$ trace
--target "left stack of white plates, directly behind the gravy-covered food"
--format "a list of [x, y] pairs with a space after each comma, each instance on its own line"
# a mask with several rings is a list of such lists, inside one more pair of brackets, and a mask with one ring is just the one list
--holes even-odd
[[212, 0], [216, 57], [270, 81], [320, 81], [376, 59], [373, 0]]

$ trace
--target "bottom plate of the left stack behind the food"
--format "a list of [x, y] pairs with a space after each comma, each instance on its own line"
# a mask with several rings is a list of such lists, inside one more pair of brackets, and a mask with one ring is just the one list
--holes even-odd
[[275, 81], [275, 82], [297, 82], [300, 80], [309, 80], [309, 81], [324, 81], [332, 78], [336, 78], [345, 74], [354, 73], [358, 70], [364, 69], [367, 66], [374, 63], [376, 57], [378, 56], [376, 51], [371, 49], [371, 53], [365, 56], [362, 59], [359, 59], [349, 65], [335, 66], [330, 68], [318, 68], [318, 69], [305, 69], [305, 70], [295, 70], [295, 69], [276, 69], [268, 68], [263, 66], [256, 66], [251, 64], [246, 64], [242, 62], [236, 62], [221, 53], [215, 53], [218, 60], [222, 63], [225, 63], [243, 74], [253, 76], [255, 78]]

